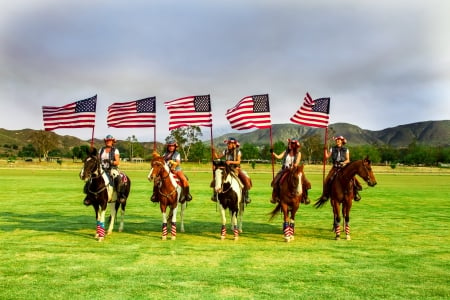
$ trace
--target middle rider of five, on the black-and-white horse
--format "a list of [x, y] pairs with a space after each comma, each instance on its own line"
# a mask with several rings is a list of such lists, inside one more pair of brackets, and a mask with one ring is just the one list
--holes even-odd
[[[227, 144], [227, 149], [223, 150], [222, 153], [217, 154], [213, 148], [214, 158], [220, 159], [225, 157], [225, 162], [231, 167], [234, 171], [235, 175], [239, 178], [242, 183], [242, 196], [244, 202], [249, 204], [251, 202], [250, 197], [248, 196], [248, 191], [252, 188], [252, 181], [248, 176], [247, 172], [241, 169], [241, 150], [239, 149], [239, 142], [235, 138], [229, 138], [224, 141]], [[213, 185], [211, 185], [213, 186]], [[217, 201], [216, 193], [211, 197], [212, 201]]]

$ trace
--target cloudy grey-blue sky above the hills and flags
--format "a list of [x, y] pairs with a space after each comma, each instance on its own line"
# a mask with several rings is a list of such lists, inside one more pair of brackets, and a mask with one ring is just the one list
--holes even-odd
[[[16, 0], [0, 10], [0, 128], [43, 129], [42, 106], [95, 94], [95, 137], [113, 102], [211, 95], [213, 135], [227, 109], [269, 94], [290, 123], [306, 92], [331, 97], [330, 123], [363, 129], [450, 119], [448, 0]], [[91, 130], [58, 129], [91, 137]], [[209, 129], [207, 131], [209, 137]]]

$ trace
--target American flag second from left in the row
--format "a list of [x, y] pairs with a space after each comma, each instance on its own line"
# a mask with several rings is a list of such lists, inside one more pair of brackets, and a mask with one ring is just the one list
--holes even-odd
[[111, 104], [107, 123], [116, 128], [155, 127], [156, 97]]

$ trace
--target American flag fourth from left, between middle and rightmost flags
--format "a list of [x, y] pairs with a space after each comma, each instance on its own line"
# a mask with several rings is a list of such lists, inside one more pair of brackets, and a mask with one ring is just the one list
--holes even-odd
[[270, 128], [269, 95], [248, 96], [225, 114], [231, 128], [245, 130], [250, 128]]

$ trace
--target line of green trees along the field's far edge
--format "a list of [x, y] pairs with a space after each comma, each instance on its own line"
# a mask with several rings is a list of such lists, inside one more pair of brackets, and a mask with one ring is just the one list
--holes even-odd
[[[202, 132], [198, 126], [182, 127], [171, 131], [165, 142], [175, 140], [178, 144], [184, 161], [209, 162], [211, 160], [211, 145], [202, 141]], [[302, 140], [301, 153], [302, 161], [307, 164], [321, 164], [323, 159], [324, 143], [320, 135], [311, 135]], [[328, 147], [333, 145], [330, 138], [327, 141]], [[270, 150], [281, 153], [286, 149], [286, 141], [276, 141], [271, 146], [254, 145], [250, 143], [241, 144], [242, 160], [256, 162], [271, 162]], [[424, 165], [438, 166], [440, 163], [450, 163], [450, 147], [428, 146], [412, 141], [408, 147], [396, 148], [390, 145], [346, 145], [350, 150], [351, 160], [358, 160], [367, 155], [374, 164], [396, 164], [404, 165]], [[153, 149], [145, 149], [143, 144], [132, 135], [125, 141], [117, 143], [116, 147], [120, 151], [121, 159], [131, 160], [132, 158], [142, 158], [150, 160]], [[225, 144], [213, 146], [214, 151], [220, 152], [226, 148]], [[75, 146], [69, 150], [58, 147], [58, 139], [55, 135], [46, 131], [37, 131], [32, 136], [32, 143], [23, 146], [21, 149], [17, 145], [3, 145], [3, 153], [0, 155], [8, 159], [38, 158], [39, 161], [47, 160], [49, 157], [72, 158], [82, 160], [86, 157], [90, 145]], [[160, 154], [164, 152], [164, 145], [159, 145], [156, 149]]]

